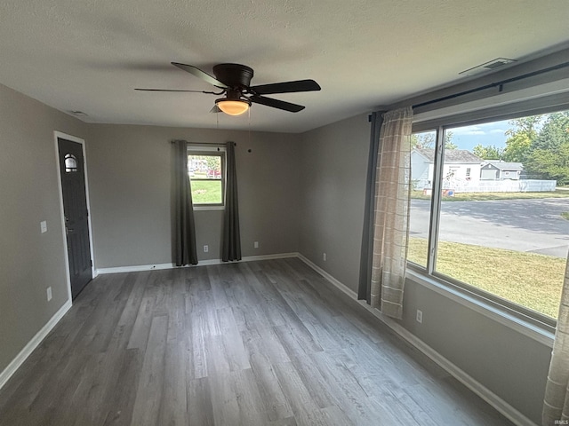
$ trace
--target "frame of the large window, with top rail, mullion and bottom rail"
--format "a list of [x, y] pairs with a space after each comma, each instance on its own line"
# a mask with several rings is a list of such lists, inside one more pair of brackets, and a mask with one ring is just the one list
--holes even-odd
[[[509, 318], [514, 319], [518, 324], [523, 324], [526, 328], [533, 330], [541, 330], [546, 335], [555, 334], [557, 319], [552, 319], [548, 315], [541, 312], [533, 311], [521, 304], [516, 304], [501, 296], [493, 295], [482, 288], [477, 288], [461, 280], [453, 279], [443, 273], [435, 270], [437, 263], [437, 244], [438, 231], [440, 226], [440, 212], [442, 201], [442, 185], [443, 185], [443, 168], [445, 154], [445, 130], [453, 130], [458, 127], [482, 124], [487, 122], [497, 122], [502, 120], [511, 120], [534, 114], [551, 114], [569, 109], [569, 104], [560, 105], [560, 103], [552, 102], [552, 105], [544, 107], [543, 99], [536, 108], [528, 108], [526, 102], [510, 105], [507, 110], [501, 109], [500, 114], [493, 116], [488, 109], [481, 110], [478, 113], [454, 114], [430, 120], [429, 122], [413, 122], [413, 133], [423, 131], [435, 131], [436, 143], [434, 154], [434, 170], [432, 176], [432, 192], [429, 209], [429, 239], [427, 252], [427, 265], [415, 264], [407, 261], [407, 270], [412, 275], [418, 277], [423, 282], [432, 283], [438, 288], [443, 288], [453, 294], [453, 296], [461, 295], [466, 300], [474, 300], [478, 306], [489, 312], [502, 312]], [[492, 108], [490, 108], [492, 109]]]

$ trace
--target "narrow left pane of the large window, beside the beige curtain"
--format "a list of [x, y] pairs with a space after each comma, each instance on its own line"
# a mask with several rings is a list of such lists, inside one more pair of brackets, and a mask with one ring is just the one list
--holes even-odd
[[430, 196], [433, 183], [435, 130], [413, 133], [411, 138], [411, 213], [407, 260], [427, 266], [429, 249]]

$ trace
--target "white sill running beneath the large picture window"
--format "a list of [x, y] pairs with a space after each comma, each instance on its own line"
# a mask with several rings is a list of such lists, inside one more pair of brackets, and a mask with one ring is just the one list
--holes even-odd
[[429, 288], [441, 296], [445, 296], [456, 303], [476, 311], [486, 318], [493, 319], [500, 324], [516, 330], [518, 333], [532, 338], [533, 340], [553, 347], [553, 339], [555, 337], [555, 328], [546, 324], [536, 324], [530, 319], [525, 319], [524, 315], [510, 312], [506, 307], [494, 304], [485, 300], [481, 296], [469, 293], [467, 290], [456, 288], [446, 284], [434, 277], [426, 276], [421, 272], [407, 268], [407, 279]]

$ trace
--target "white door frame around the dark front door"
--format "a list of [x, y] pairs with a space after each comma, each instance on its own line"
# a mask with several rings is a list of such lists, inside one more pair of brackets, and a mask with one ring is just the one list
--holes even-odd
[[76, 142], [77, 144], [81, 145], [83, 151], [83, 161], [84, 161], [84, 175], [85, 175], [85, 199], [87, 201], [87, 210], [89, 211], [89, 215], [87, 216], [87, 225], [89, 227], [89, 250], [91, 253], [91, 275], [94, 279], [97, 274], [95, 273], [95, 253], [93, 248], [93, 240], [92, 240], [92, 225], [91, 225], [91, 203], [89, 201], [89, 177], [87, 174], [87, 157], [85, 153], [85, 141], [82, 138], [77, 138], [76, 136], [68, 135], [67, 133], [63, 133], [58, 130], [53, 131], [53, 139], [55, 144], [55, 165], [57, 167], [57, 187], [59, 192], [60, 198], [60, 219], [61, 219], [61, 236], [63, 238], [63, 252], [65, 258], [65, 276], [68, 281], [68, 301], [72, 301], [71, 297], [71, 275], [69, 272], [69, 254], [68, 254], [68, 237], [65, 233], [65, 210], [63, 209], [63, 188], [61, 187], [61, 169], [60, 169], [60, 155], [59, 155], [59, 142], [58, 139], [67, 139], [71, 142]]

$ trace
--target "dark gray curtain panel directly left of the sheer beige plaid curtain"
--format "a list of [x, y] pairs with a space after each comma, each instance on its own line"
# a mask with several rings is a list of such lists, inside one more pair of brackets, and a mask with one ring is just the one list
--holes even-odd
[[375, 177], [377, 173], [377, 156], [380, 146], [380, 129], [383, 111], [370, 115], [372, 134], [370, 137], [370, 154], [367, 162], [367, 181], [365, 184], [364, 232], [362, 233], [362, 254], [359, 265], [359, 286], [357, 298], [371, 303], [372, 263], [373, 263], [373, 219], [375, 217]]

